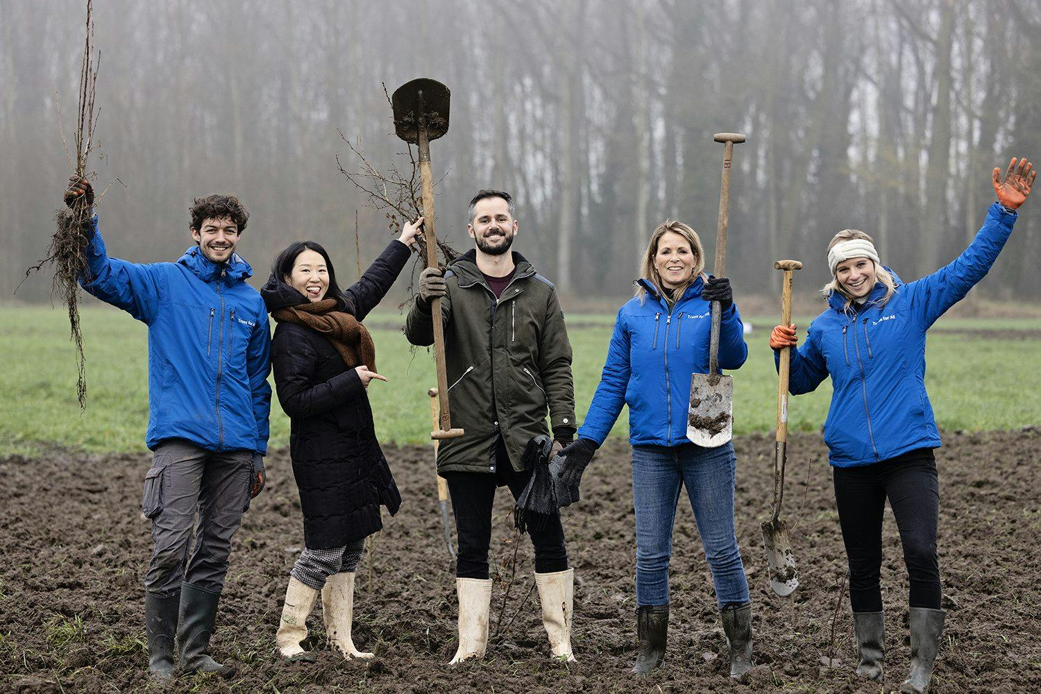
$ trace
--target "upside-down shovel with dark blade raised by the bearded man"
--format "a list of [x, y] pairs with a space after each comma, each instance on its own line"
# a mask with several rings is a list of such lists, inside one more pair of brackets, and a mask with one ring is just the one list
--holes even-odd
[[[427, 267], [437, 267], [437, 236], [434, 233], [434, 179], [430, 172], [430, 140], [449, 130], [449, 87], [432, 79], [420, 78], [402, 84], [390, 97], [393, 127], [398, 136], [420, 150], [420, 179], [423, 185], [423, 227], [427, 242]], [[431, 302], [434, 323], [434, 361], [437, 366], [437, 392], [440, 417], [430, 438], [453, 439], [463, 435], [452, 429], [449, 412], [449, 382], [445, 370], [445, 328], [441, 325], [441, 300]]]

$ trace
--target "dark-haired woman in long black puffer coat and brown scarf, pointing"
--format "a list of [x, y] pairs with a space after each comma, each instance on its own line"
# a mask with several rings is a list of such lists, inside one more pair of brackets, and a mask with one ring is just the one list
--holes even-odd
[[372, 658], [351, 639], [354, 574], [364, 539], [379, 531], [380, 506], [398, 512], [401, 495], [376, 440], [365, 389], [376, 350], [361, 319], [393, 284], [423, 217], [406, 224], [341, 291], [332, 261], [313, 241], [298, 241], [275, 260], [261, 295], [278, 322], [272, 366], [279, 403], [289, 415], [289, 456], [304, 515], [305, 549], [290, 571], [275, 643], [283, 658], [312, 661], [301, 642], [322, 594], [330, 643], [345, 658]]

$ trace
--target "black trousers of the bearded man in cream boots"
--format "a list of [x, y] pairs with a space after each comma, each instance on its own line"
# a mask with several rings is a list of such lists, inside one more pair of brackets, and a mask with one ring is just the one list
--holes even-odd
[[[497, 459], [496, 472], [445, 473], [456, 517], [459, 545], [456, 576], [459, 579], [488, 577], [491, 505], [496, 500], [496, 488], [506, 485], [516, 499], [531, 480], [531, 470], [517, 472], [510, 465], [502, 439], [492, 455]], [[552, 573], [567, 569], [567, 548], [559, 516], [545, 530], [530, 530], [528, 535], [535, 546], [535, 571]]]

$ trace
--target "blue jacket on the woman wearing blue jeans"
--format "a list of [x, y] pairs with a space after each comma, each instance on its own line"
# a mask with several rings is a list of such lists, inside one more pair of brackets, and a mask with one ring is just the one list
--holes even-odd
[[[628, 405], [631, 444], [689, 443], [690, 375], [709, 371], [711, 304], [702, 299], [702, 278], [671, 312], [653, 284], [638, 281], [645, 300], [633, 298], [618, 310], [604, 374], [579, 436], [603, 443]], [[747, 356], [744, 326], [731, 305], [720, 323], [719, 368], [738, 368]]]

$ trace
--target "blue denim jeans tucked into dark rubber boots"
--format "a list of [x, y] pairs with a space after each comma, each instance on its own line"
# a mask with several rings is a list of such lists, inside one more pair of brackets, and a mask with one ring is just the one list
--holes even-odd
[[703, 448], [633, 446], [636, 510], [636, 605], [668, 602], [668, 561], [680, 487], [687, 488], [720, 607], [748, 601], [741, 551], [734, 531], [734, 471], [730, 443]]

